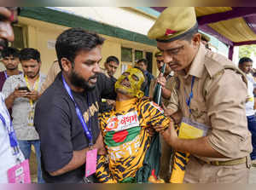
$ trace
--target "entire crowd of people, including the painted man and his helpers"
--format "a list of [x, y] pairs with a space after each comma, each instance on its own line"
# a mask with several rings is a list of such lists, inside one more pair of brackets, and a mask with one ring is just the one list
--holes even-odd
[[253, 60], [212, 52], [194, 8], [167, 8], [148, 31], [156, 78], [146, 59], [114, 78], [119, 59], [101, 68], [105, 39], [82, 28], [56, 38], [44, 76], [38, 49], [8, 47], [19, 12], [0, 7], [0, 182], [31, 182], [32, 146], [38, 183], [248, 182]]

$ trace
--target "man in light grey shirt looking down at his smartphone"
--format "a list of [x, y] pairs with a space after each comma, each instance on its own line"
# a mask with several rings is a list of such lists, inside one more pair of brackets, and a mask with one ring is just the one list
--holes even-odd
[[35, 104], [39, 98], [38, 91], [45, 80], [45, 76], [40, 73], [40, 53], [37, 49], [22, 49], [20, 63], [24, 73], [7, 78], [2, 92], [6, 107], [12, 107], [14, 129], [25, 158], [30, 158], [31, 146], [35, 147], [38, 183], [43, 183], [40, 141], [33, 124]]

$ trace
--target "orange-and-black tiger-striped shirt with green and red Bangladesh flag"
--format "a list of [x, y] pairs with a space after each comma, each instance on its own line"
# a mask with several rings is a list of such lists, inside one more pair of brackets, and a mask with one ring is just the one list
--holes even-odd
[[101, 182], [120, 182], [135, 177], [150, 145], [148, 127], [167, 128], [170, 122], [158, 105], [142, 99], [117, 101], [116, 110], [103, 113], [99, 119], [108, 151], [108, 157], [98, 160], [96, 176]]

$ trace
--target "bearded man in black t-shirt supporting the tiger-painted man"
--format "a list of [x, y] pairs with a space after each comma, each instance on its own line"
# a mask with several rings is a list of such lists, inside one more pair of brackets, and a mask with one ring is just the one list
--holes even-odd
[[[36, 106], [34, 123], [41, 140], [42, 170], [46, 182], [84, 182], [89, 140], [75, 103], [88, 126], [98, 154], [105, 153], [98, 128], [100, 97], [115, 99], [113, 82], [100, 73], [104, 39], [73, 28], [62, 32], [55, 49], [61, 72]], [[66, 81], [67, 86], [64, 86]], [[67, 93], [71, 89], [73, 100]], [[93, 177], [90, 177], [93, 181]]]

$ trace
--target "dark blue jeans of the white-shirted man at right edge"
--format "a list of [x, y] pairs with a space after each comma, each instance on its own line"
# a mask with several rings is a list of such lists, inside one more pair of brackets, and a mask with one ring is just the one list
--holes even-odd
[[253, 152], [251, 153], [251, 159], [256, 159], [256, 117], [254, 115], [247, 116], [248, 130], [252, 133]]

